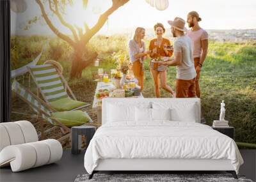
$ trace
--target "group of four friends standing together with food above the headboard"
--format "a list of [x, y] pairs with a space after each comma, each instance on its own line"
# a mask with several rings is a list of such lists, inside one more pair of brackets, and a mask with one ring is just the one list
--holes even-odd
[[[176, 98], [200, 98], [200, 71], [204, 65], [208, 49], [208, 34], [199, 26], [202, 19], [196, 11], [188, 13], [187, 23], [189, 30], [185, 27], [185, 20], [176, 17], [169, 20], [171, 32], [175, 39], [173, 46], [170, 40], [164, 38], [165, 28], [163, 24], [157, 23], [154, 26], [156, 38], [150, 41], [148, 50], [145, 48], [145, 29], [137, 27], [134, 37], [129, 41], [129, 58], [132, 62], [134, 77], [143, 89], [143, 62], [149, 56], [150, 73], [154, 80], [156, 97], [160, 97], [160, 88], [168, 91]], [[157, 61], [162, 57], [164, 61]], [[166, 82], [168, 66], [176, 66], [175, 91]]]

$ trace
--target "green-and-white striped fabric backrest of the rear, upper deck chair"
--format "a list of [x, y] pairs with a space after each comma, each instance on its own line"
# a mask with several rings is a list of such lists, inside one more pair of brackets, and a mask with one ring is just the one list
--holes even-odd
[[60, 75], [52, 64], [29, 66], [29, 69], [48, 102], [68, 98]]

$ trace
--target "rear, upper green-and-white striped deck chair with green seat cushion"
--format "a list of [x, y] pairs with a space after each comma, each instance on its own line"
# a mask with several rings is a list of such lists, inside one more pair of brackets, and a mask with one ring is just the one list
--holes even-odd
[[28, 69], [38, 91], [53, 109], [58, 111], [77, 110], [90, 105], [76, 100], [76, 96], [60, 70], [56, 69], [53, 64], [28, 66]]

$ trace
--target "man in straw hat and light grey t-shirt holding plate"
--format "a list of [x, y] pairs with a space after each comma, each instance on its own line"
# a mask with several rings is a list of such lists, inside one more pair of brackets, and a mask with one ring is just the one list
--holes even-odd
[[174, 59], [161, 62], [159, 64], [177, 66], [176, 75], [176, 97], [188, 98], [195, 97], [195, 77], [196, 71], [193, 61], [193, 48], [191, 39], [185, 34], [186, 22], [176, 17], [170, 24], [173, 37], [177, 40], [173, 43]]

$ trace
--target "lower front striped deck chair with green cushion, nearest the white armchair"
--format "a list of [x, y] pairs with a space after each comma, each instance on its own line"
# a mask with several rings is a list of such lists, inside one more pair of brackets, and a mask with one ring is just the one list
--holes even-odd
[[25, 87], [21, 86], [16, 80], [12, 83], [12, 92], [19, 96], [21, 100], [29, 104], [41, 118], [40, 121], [44, 120], [52, 125], [60, 126], [61, 132], [64, 134], [70, 133], [70, 128], [68, 127], [80, 126], [84, 125], [84, 123], [92, 123], [90, 116], [81, 110], [52, 112], [51, 107], [49, 107], [47, 103], [31, 93], [31, 91]]

